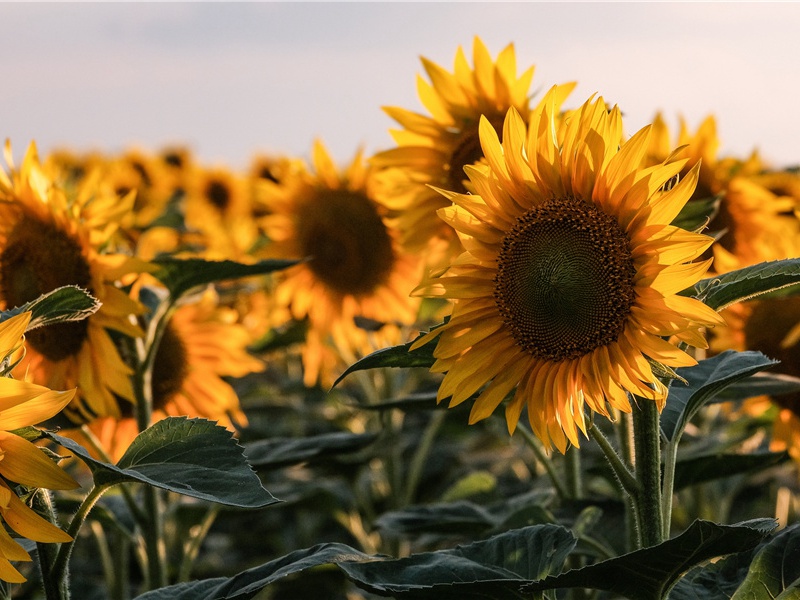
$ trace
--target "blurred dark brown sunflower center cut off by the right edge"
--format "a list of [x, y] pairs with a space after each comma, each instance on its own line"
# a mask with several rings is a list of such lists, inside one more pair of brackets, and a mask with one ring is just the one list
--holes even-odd
[[[750, 303], [752, 312], [744, 327], [749, 350], [759, 350], [781, 361], [781, 373], [800, 377], [800, 343], [783, 347], [786, 334], [800, 323], [800, 297], [758, 300]], [[775, 396], [776, 404], [800, 417], [800, 393]]]

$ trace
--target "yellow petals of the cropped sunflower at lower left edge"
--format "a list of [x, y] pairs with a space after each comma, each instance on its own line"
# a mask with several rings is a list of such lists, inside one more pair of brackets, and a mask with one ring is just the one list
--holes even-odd
[[[24, 353], [22, 336], [30, 322], [29, 312], [0, 323], [0, 357], [3, 365], [15, 363]], [[15, 429], [45, 421], [66, 406], [75, 390], [58, 392], [4, 372], [0, 377], [0, 580], [22, 583], [25, 578], [11, 562], [30, 561], [25, 549], [9, 535], [8, 525], [22, 537], [46, 543], [69, 542], [72, 538], [46, 521], [17, 497], [7, 481], [28, 488], [69, 490], [75, 480], [48, 458], [40, 448], [12, 433]]]

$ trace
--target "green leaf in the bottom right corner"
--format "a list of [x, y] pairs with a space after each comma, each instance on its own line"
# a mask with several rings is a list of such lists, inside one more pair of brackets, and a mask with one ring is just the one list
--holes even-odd
[[731, 600], [800, 598], [800, 527], [784, 529], [756, 554]]

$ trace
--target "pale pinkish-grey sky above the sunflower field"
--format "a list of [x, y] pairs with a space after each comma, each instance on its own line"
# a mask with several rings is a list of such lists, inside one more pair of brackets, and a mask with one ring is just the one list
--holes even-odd
[[246, 167], [257, 153], [337, 161], [392, 147], [382, 106], [425, 112], [424, 56], [452, 71], [480, 36], [535, 66], [538, 96], [577, 81], [635, 132], [713, 114], [721, 156], [800, 164], [800, 4], [0, 3], [0, 137], [15, 156], [155, 151]]

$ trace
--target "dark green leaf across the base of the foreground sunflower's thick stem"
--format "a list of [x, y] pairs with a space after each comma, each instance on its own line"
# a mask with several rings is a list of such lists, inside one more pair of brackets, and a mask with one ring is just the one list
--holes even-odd
[[754, 548], [775, 529], [772, 519], [736, 525], [695, 521], [677, 537], [650, 548], [548, 577], [523, 588], [526, 592], [557, 588], [590, 588], [630, 600], [664, 598], [682, 573], [717, 556]]

